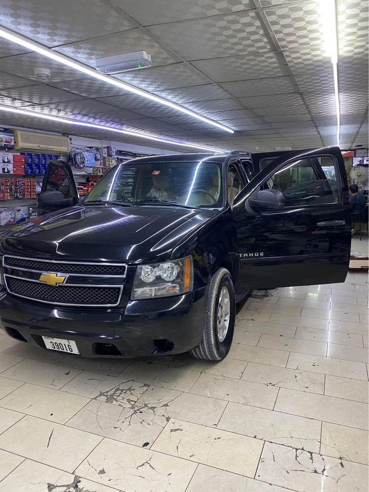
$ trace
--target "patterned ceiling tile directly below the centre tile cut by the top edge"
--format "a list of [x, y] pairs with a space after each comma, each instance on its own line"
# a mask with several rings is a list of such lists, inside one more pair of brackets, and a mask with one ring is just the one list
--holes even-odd
[[149, 27], [186, 60], [245, 55], [271, 49], [254, 12], [207, 17]]

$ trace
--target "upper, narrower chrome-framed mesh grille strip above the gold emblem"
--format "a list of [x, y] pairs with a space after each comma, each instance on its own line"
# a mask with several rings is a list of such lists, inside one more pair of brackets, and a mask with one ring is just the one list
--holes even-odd
[[34, 260], [31, 258], [4, 256], [4, 266], [22, 270], [52, 271], [82, 275], [117, 275], [125, 277], [127, 265], [114, 263], [83, 263]]

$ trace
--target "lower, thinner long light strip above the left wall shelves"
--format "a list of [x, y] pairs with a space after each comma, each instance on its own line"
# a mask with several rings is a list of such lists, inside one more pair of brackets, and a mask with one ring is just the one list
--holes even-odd
[[211, 152], [224, 152], [224, 150], [215, 149], [212, 147], [206, 147], [203, 145], [191, 144], [191, 143], [187, 143], [187, 142], [176, 142], [174, 140], [160, 139], [159, 137], [147, 135], [146, 133], [140, 133], [138, 131], [120, 130], [119, 128], [114, 128], [111, 126], [97, 125], [95, 123], [85, 123], [83, 121], [78, 121], [78, 120], [77, 121], [76, 120], [70, 120], [68, 118], [64, 118], [64, 117], [60, 117], [60, 116], [52, 116], [50, 114], [39, 113], [36, 111], [29, 111], [27, 109], [13, 108], [11, 106], [5, 106], [3, 104], [0, 104], [0, 112], [1, 111], [6, 111], [8, 113], [15, 113], [15, 114], [23, 114], [25, 116], [31, 116], [34, 118], [41, 118], [44, 120], [56, 121], [57, 123], [67, 123], [68, 125], [77, 125], [77, 126], [84, 126], [87, 128], [96, 128], [98, 130], [113, 131], [113, 132], [124, 134], [124, 135], [136, 136], [136, 137], [139, 137], [140, 139], [151, 140], [153, 142], [160, 142], [162, 144], [178, 145], [179, 147], [191, 147], [192, 149], [209, 150]]

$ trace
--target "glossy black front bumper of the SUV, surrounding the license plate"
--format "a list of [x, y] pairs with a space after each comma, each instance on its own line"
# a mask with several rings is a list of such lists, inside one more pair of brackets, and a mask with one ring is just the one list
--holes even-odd
[[206, 307], [206, 288], [105, 309], [53, 307], [4, 293], [0, 326], [9, 336], [44, 349], [42, 336], [74, 340], [82, 357], [172, 355], [199, 344]]

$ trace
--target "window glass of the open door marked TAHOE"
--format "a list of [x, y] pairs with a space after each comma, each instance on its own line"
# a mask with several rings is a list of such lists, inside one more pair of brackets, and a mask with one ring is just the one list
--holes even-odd
[[330, 156], [314, 160], [314, 163], [298, 160], [275, 172], [265, 184], [266, 188], [283, 193], [285, 207], [338, 203], [336, 172]]

